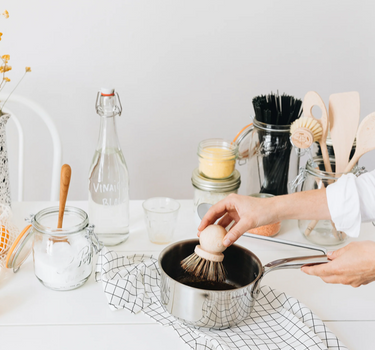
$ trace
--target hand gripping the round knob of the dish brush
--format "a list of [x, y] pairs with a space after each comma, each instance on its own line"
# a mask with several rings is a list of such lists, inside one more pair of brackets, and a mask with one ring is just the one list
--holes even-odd
[[228, 247], [246, 231], [267, 224], [277, 222], [277, 217], [272, 210], [273, 198], [254, 198], [231, 194], [217, 204], [213, 205], [203, 217], [198, 227], [198, 236], [208, 225], [216, 222], [227, 227], [233, 221], [235, 224], [224, 237], [223, 244]]

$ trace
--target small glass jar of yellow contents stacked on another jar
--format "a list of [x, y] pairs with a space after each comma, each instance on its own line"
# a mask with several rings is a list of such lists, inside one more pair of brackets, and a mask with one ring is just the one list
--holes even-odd
[[233, 175], [238, 147], [222, 139], [208, 139], [198, 145], [199, 172], [214, 179], [227, 179]]

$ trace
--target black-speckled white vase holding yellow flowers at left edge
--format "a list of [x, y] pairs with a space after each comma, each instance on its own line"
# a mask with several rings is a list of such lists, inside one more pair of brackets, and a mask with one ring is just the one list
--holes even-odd
[[11, 206], [6, 124], [10, 114], [0, 111], [0, 203]]

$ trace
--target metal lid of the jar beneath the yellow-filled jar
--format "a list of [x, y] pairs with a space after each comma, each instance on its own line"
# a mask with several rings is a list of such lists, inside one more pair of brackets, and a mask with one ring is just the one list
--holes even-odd
[[191, 182], [198, 190], [225, 193], [235, 191], [240, 187], [241, 174], [237, 169], [235, 169], [230, 177], [226, 179], [214, 180], [204, 177], [200, 174], [199, 168], [196, 168], [191, 176]]

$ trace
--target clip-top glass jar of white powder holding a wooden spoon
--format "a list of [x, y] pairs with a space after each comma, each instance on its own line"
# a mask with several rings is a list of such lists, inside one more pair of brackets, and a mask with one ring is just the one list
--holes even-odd
[[90, 277], [93, 246], [98, 248], [99, 242], [82, 209], [66, 207], [60, 229], [56, 228], [58, 215], [59, 208], [51, 207], [31, 219], [34, 272], [50, 289], [71, 290]]

